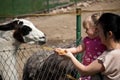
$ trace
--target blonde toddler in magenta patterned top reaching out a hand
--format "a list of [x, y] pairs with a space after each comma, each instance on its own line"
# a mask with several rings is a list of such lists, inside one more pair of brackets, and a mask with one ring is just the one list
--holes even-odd
[[[97, 57], [101, 55], [103, 51], [106, 50], [105, 45], [101, 43], [101, 40], [98, 36], [98, 30], [96, 28], [96, 22], [99, 16], [100, 15], [98, 13], [95, 13], [92, 16], [86, 18], [83, 21], [83, 27], [86, 30], [87, 36], [83, 39], [83, 42], [78, 47], [65, 49], [73, 54], [84, 51], [84, 55], [82, 57], [82, 63], [85, 66], [89, 65], [92, 61], [97, 59]], [[81, 77], [81, 80], [91, 80], [91, 79], [90, 76], [88, 76], [88, 77]]]

